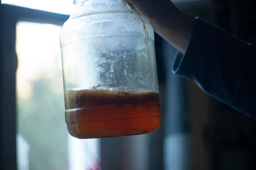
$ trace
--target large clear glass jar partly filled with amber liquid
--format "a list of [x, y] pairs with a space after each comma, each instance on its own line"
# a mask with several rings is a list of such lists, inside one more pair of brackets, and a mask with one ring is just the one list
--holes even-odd
[[75, 0], [60, 35], [68, 131], [149, 133], [160, 124], [154, 30], [123, 0]]

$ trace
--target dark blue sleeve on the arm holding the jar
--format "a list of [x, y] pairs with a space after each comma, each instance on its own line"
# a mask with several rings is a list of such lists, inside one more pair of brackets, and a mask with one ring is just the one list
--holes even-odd
[[175, 57], [173, 72], [256, 119], [256, 49], [208, 22], [196, 20], [185, 54]]

